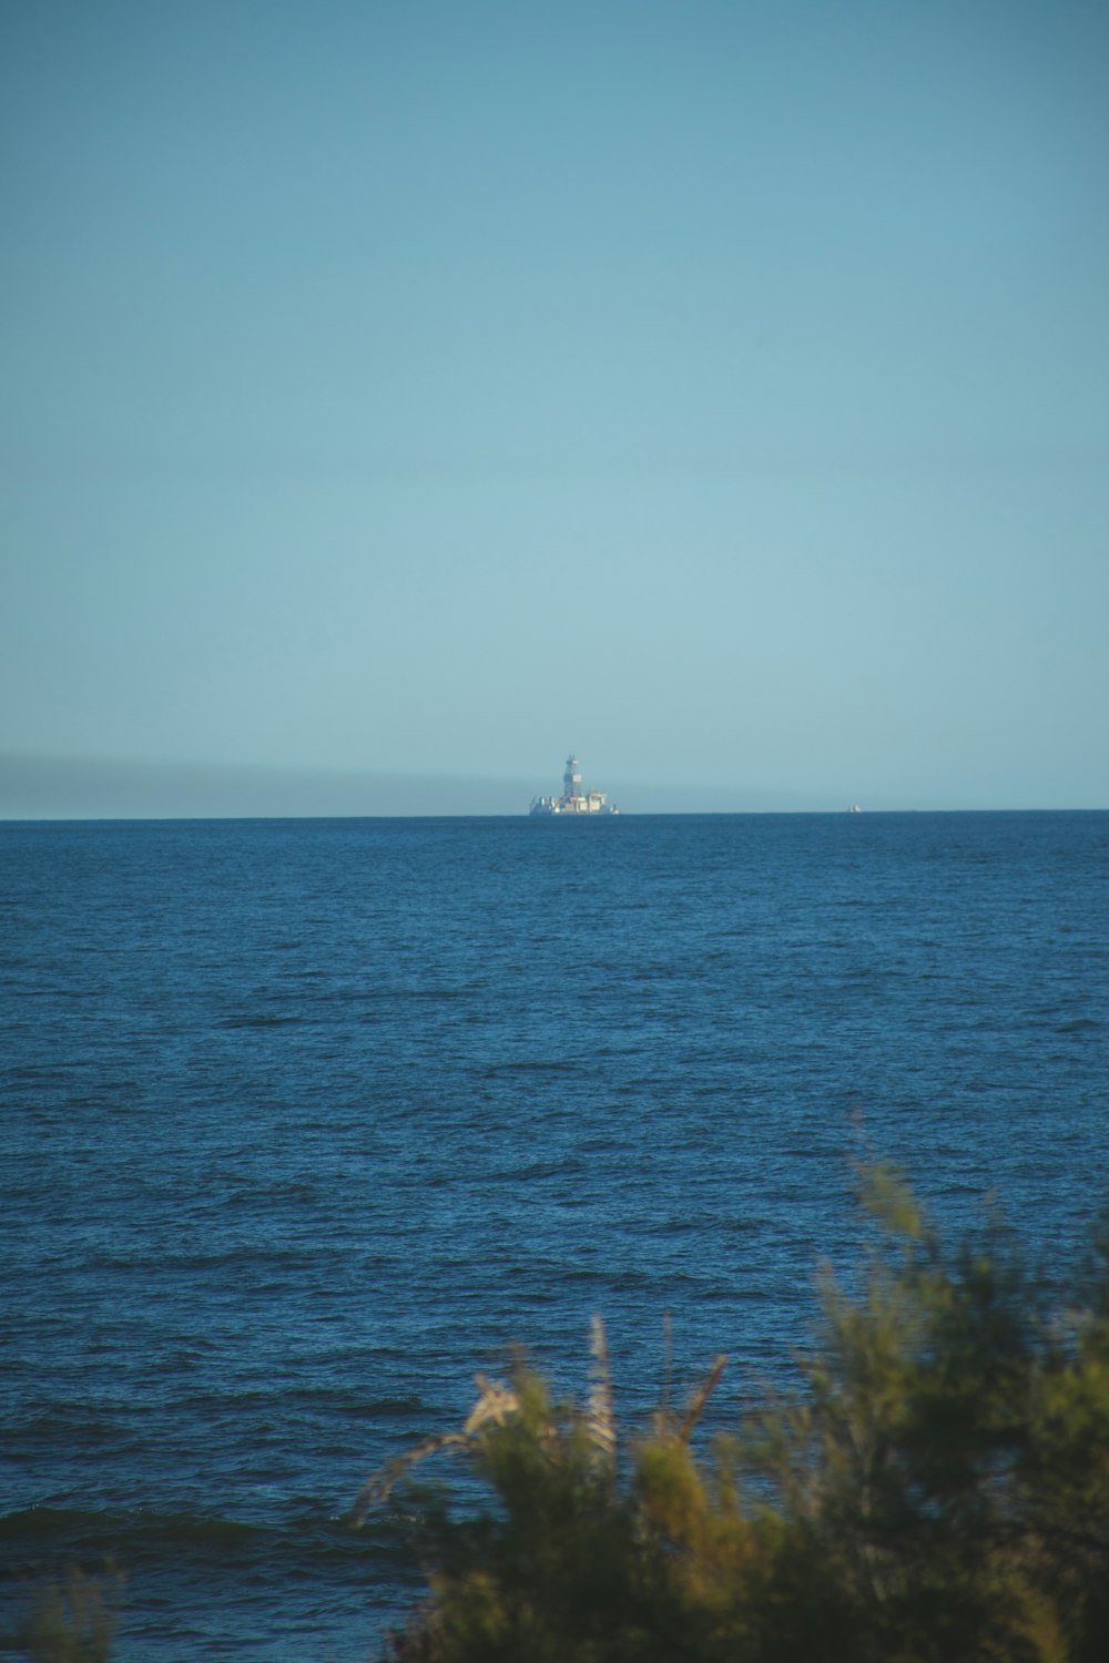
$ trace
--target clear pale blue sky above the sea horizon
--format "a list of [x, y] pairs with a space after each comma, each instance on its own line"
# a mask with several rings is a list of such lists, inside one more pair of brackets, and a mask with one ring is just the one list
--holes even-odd
[[7, 0], [0, 815], [1109, 807], [1101, 0]]

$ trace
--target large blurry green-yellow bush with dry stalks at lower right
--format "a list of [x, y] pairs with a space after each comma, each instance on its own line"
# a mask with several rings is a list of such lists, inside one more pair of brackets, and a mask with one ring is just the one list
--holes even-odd
[[[604, 1329], [582, 1407], [520, 1365], [467, 1425], [367, 1480], [402, 1485], [431, 1591], [397, 1663], [1104, 1663], [1109, 1276], [1059, 1304], [999, 1231], [944, 1254], [873, 1171], [863, 1289], [826, 1279], [795, 1397], [707, 1440], [725, 1360], [617, 1442]], [[467, 1457], [456, 1515], [412, 1468]], [[469, 1480], [467, 1480], [469, 1483]]]

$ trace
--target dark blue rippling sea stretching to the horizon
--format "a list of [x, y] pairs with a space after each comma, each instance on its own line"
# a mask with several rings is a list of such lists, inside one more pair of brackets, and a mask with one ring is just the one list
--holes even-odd
[[850, 1262], [851, 1157], [1077, 1251], [1109, 815], [0, 827], [0, 1621], [111, 1553], [126, 1663], [354, 1663], [362, 1477], [515, 1342], [727, 1420]]

